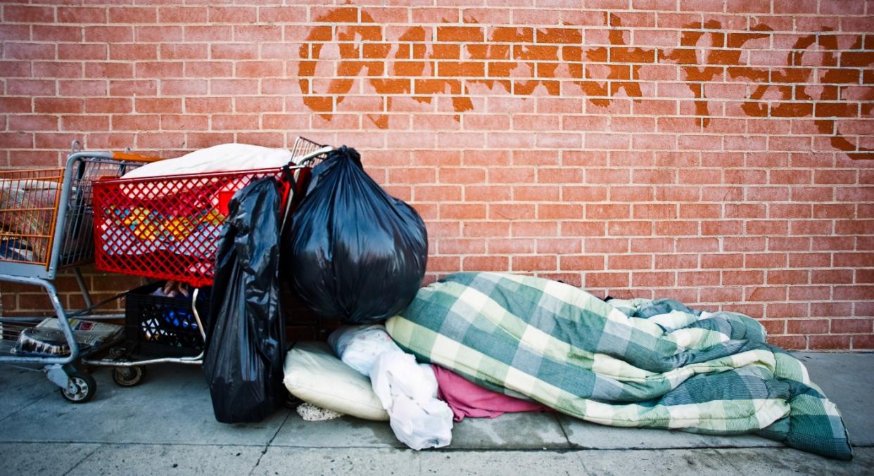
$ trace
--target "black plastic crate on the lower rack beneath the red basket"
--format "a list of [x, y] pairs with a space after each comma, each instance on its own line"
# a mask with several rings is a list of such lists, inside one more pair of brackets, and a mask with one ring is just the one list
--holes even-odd
[[[194, 356], [204, 349], [198, 321], [191, 312], [191, 297], [156, 296], [163, 282], [140, 286], [128, 293], [124, 307], [124, 337], [133, 355]], [[198, 314], [206, 325], [209, 290], [201, 288]]]

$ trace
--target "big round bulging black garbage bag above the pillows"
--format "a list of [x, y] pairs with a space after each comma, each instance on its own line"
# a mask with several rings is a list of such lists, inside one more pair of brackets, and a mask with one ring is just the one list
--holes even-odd
[[350, 323], [398, 314], [425, 276], [425, 223], [361, 166], [354, 148], [338, 148], [313, 169], [292, 218], [286, 271], [317, 314]]

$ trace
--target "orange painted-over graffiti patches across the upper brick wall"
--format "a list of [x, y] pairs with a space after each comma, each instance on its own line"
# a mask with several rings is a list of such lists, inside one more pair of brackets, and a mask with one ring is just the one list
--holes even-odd
[[[618, 93], [639, 101], [644, 96], [642, 66], [675, 64], [694, 97], [699, 126], [708, 127], [711, 119], [711, 100], [705, 86], [727, 80], [723, 75], [743, 78], [756, 85], [740, 105], [746, 116], [814, 117], [816, 128], [829, 136], [832, 147], [854, 159], [874, 159], [874, 149], [847, 139], [836, 121], [854, 115], [846, 114], [848, 111], [857, 111], [853, 109], [856, 103], [841, 102], [836, 85], [859, 84], [861, 68], [874, 61], [864, 57], [853, 65], [855, 68], [837, 67], [836, 55], [842, 53], [836, 34], [829, 29], [798, 38], [787, 52], [784, 66], [756, 67], [742, 58], [749, 51], [743, 48], [747, 42], [768, 38], [772, 29], [766, 24], [754, 25], [747, 31], [722, 31], [722, 24], [715, 20], [704, 25], [687, 24], [679, 47], [656, 49], [628, 46], [628, 31], [621, 29], [620, 17], [604, 13], [604, 21], [610, 26], [609, 46], [586, 47], [582, 45], [582, 31], [567, 24], [538, 29], [537, 42], [532, 28], [489, 28], [487, 38], [487, 30], [478, 24], [438, 26], [437, 38], [432, 38], [432, 29], [410, 26], [397, 38], [386, 38], [364, 9], [360, 10], [359, 23], [343, 24], [348, 21], [347, 10], [332, 10], [317, 18], [319, 22], [340, 25], [333, 32], [329, 25], [313, 27], [308, 42], [300, 47], [298, 76], [303, 102], [326, 120], [333, 117], [336, 107], [362, 76], [385, 97], [383, 113], [392, 111], [396, 97], [431, 103], [437, 95], [449, 96], [454, 112], [463, 113], [475, 109], [471, 87], [479, 85], [489, 90], [497, 86], [516, 97], [531, 96], [538, 89], [559, 96], [562, 88], [578, 86], [586, 100], [599, 107], [608, 107]], [[858, 35], [851, 49], [861, 49], [862, 42], [863, 36]], [[326, 45], [336, 51], [326, 53]], [[334, 65], [333, 60], [336, 71], [319, 72], [320, 66]], [[822, 74], [814, 77], [816, 71]], [[329, 79], [317, 82], [319, 78]], [[776, 101], [774, 92], [779, 97]], [[870, 108], [863, 109], [863, 114], [866, 111], [871, 112]], [[388, 114], [367, 117], [378, 128], [389, 127]], [[460, 121], [460, 116], [456, 115], [455, 120]]]

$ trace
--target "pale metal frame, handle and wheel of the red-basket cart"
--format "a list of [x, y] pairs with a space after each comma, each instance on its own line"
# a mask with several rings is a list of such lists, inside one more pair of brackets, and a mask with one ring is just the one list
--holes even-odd
[[[301, 178], [299, 174], [307, 173], [309, 169], [311, 169], [316, 162], [319, 160], [323, 160], [329, 152], [334, 150], [333, 147], [328, 145], [319, 144], [316, 141], [310, 141], [304, 137], [297, 137], [295, 140], [295, 145], [292, 148], [292, 159], [291, 162], [286, 164], [281, 169], [281, 175], [285, 180], [288, 181], [288, 192], [287, 196], [284, 197], [284, 206], [281, 210], [282, 219], [281, 219], [281, 231], [286, 230], [286, 224], [288, 221], [288, 217], [290, 216], [293, 205], [298, 203], [301, 195], [306, 193], [306, 190], [295, 190], [295, 186], [299, 184], [299, 179]], [[256, 171], [260, 172], [260, 171]], [[307, 177], [303, 177], [303, 181], [305, 182]], [[149, 179], [142, 179], [149, 180]], [[154, 180], [166, 180], [166, 177], [161, 178], [157, 177]], [[100, 264], [100, 263], [98, 263]], [[123, 269], [114, 268], [114, 272], [122, 272], [125, 271]], [[142, 272], [137, 271], [133, 272], [135, 275], [143, 276]], [[149, 276], [147, 276], [149, 277]], [[177, 279], [184, 280], [184, 277], [176, 277]], [[202, 278], [198, 277], [198, 281], [202, 281]], [[191, 314], [193, 314], [195, 321], [198, 324], [198, 330], [200, 333], [200, 337], [206, 341], [206, 334], [203, 326], [203, 320], [201, 319], [196, 303], [198, 301], [198, 293], [199, 289], [197, 287], [194, 288], [194, 291], [191, 295]], [[95, 367], [112, 367], [113, 368], [113, 380], [116, 384], [122, 387], [133, 387], [142, 382], [142, 378], [145, 376], [145, 367], [162, 364], [162, 363], [179, 363], [184, 365], [201, 365], [204, 361], [205, 351], [201, 351], [198, 355], [194, 356], [182, 356], [182, 357], [165, 357], [159, 356], [155, 358], [147, 358], [147, 359], [135, 359], [129, 353], [129, 349], [126, 348], [114, 348], [110, 353], [110, 358], [108, 359], [83, 359], [82, 363], [87, 365], [92, 365]]]

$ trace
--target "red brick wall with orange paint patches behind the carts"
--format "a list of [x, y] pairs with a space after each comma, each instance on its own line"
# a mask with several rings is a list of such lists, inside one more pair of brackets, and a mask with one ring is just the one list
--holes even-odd
[[874, 348], [874, 2], [40, 3], [2, 5], [3, 166], [74, 138], [345, 143], [426, 219], [429, 279], [534, 272]]

